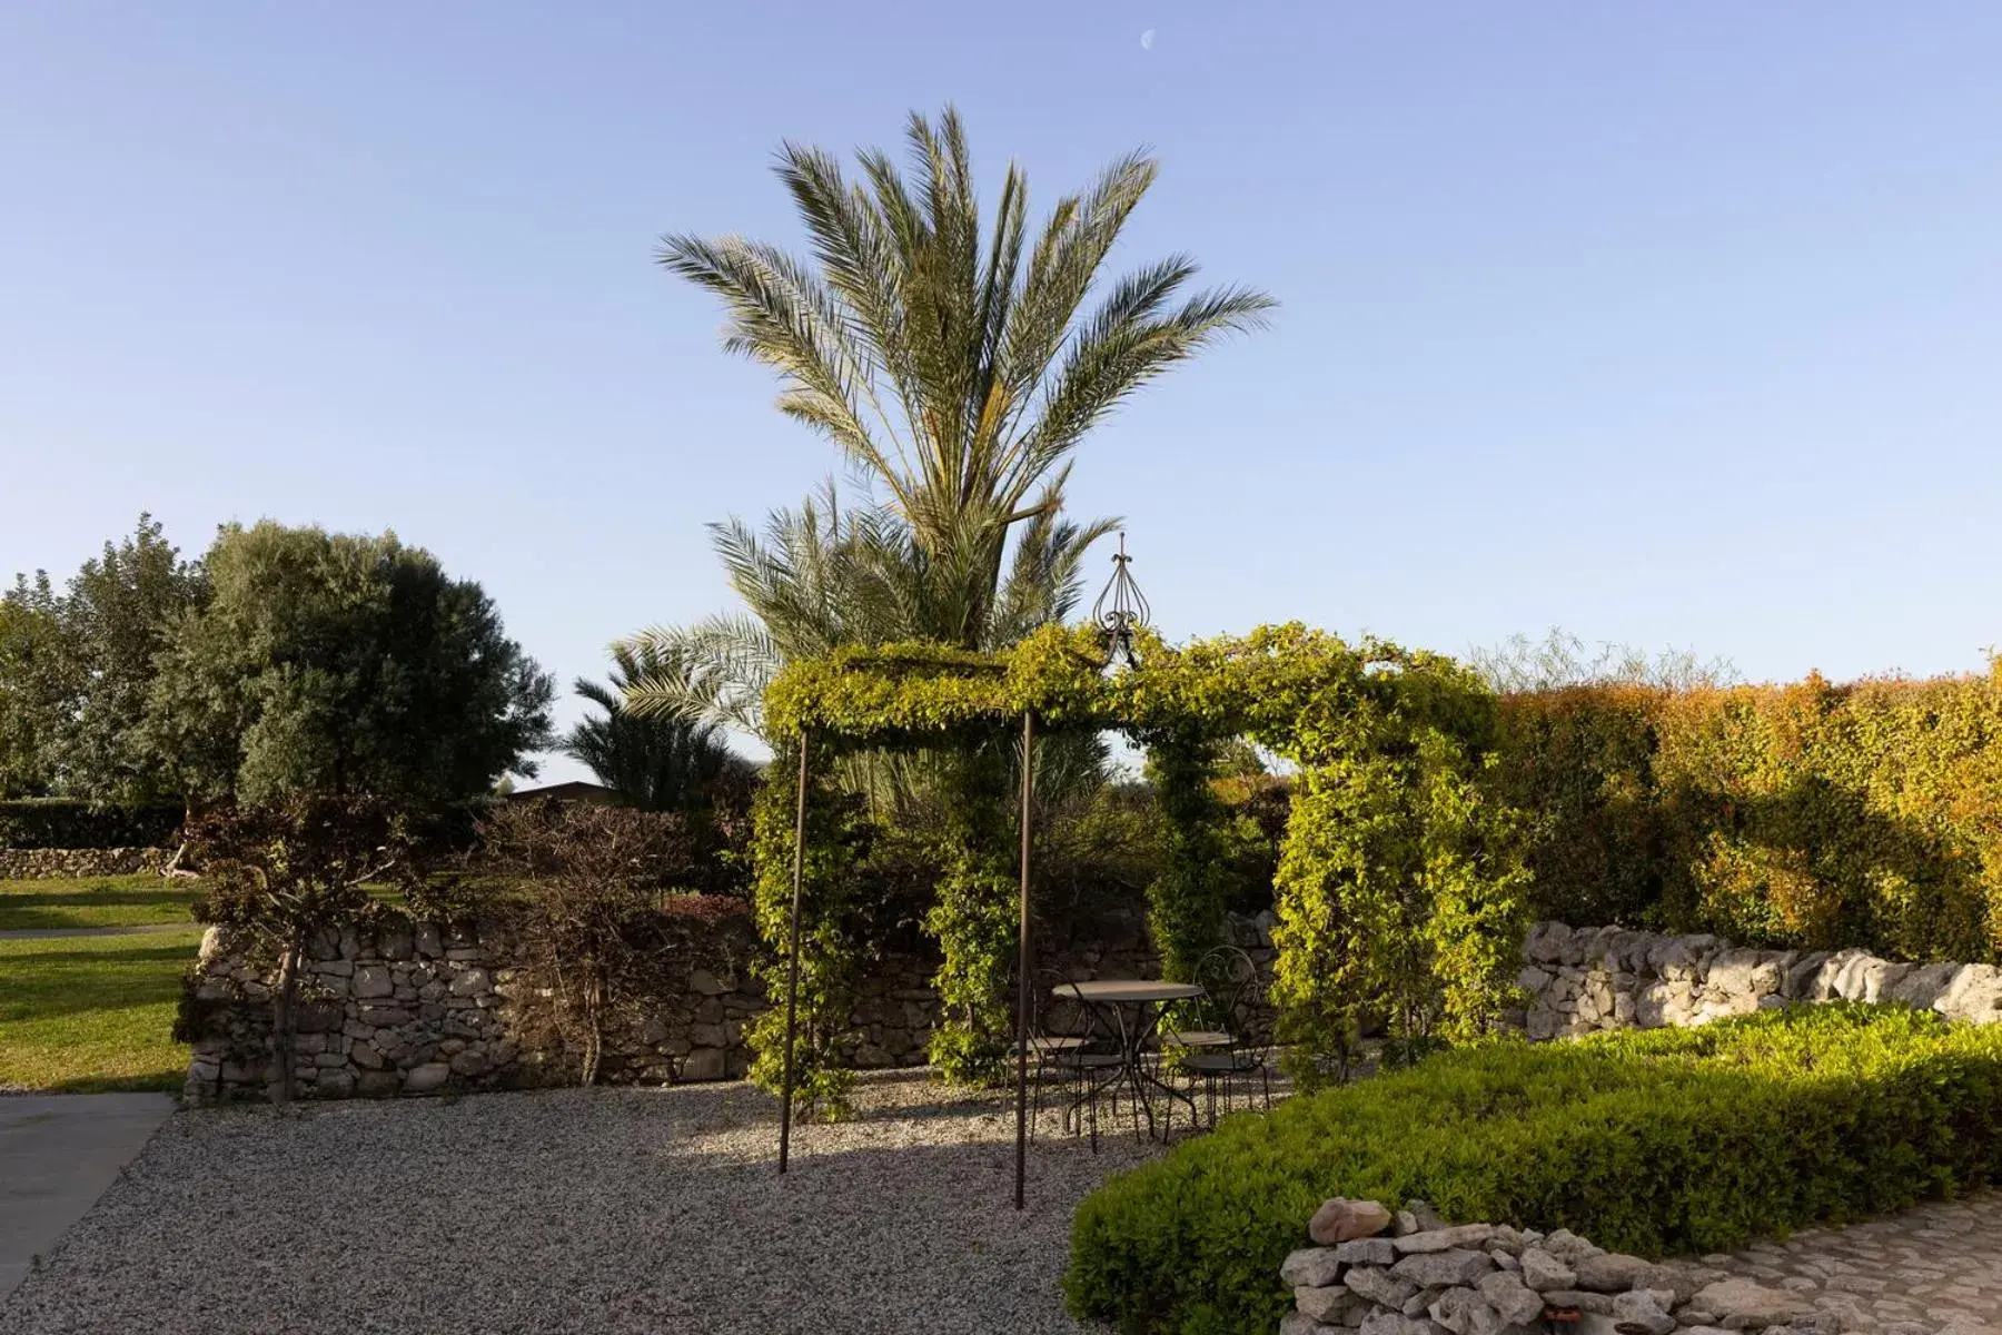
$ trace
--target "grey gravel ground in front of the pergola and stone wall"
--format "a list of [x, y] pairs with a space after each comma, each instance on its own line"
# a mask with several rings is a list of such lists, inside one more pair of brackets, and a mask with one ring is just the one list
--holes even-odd
[[747, 1085], [190, 1111], [0, 1301], [0, 1331], [1083, 1331], [1071, 1209], [1145, 1157], [921, 1077], [795, 1129]]

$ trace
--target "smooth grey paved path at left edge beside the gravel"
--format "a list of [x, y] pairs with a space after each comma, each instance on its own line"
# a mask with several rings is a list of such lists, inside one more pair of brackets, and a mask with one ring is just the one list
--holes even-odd
[[0, 1299], [172, 1111], [172, 1095], [0, 1097]]

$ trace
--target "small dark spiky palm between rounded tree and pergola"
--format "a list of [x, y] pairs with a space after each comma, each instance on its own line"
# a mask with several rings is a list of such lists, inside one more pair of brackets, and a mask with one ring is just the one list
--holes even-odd
[[719, 783], [743, 763], [723, 743], [721, 729], [693, 719], [663, 719], [627, 709], [625, 693], [651, 666], [643, 648], [617, 644], [613, 677], [599, 685], [577, 679], [577, 695], [603, 717], [585, 719], [565, 739], [563, 751], [597, 775], [639, 811], [699, 811], [709, 807]]

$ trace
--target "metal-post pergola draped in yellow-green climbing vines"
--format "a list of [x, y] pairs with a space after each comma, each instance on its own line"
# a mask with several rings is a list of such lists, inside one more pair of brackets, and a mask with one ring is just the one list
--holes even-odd
[[[1123, 733], [1153, 757], [1171, 865], [1149, 887], [1149, 931], [1169, 979], [1187, 979], [1223, 929], [1217, 799], [1209, 761], [1249, 739], [1297, 769], [1277, 875], [1271, 997], [1277, 1039], [1297, 1075], [1345, 1063], [1365, 1009], [1407, 1043], [1483, 1033], [1506, 1005], [1522, 929], [1516, 821], [1479, 783], [1495, 745], [1495, 703], [1451, 658], [1383, 640], [1347, 644], [1303, 624], [1165, 644], [1125, 626], [1125, 662], [1109, 671], [1099, 626], [1045, 626], [1001, 652], [939, 644], [843, 648], [789, 664], [765, 695], [767, 735], [791, 779], [791, 829], [761, 831], [761, 859], [789, 859], [781, 913], [777, 867], [761, 867], [759, 921], [783, 927], [787, 1005], [779, 1169], [785, 1171], [801, 1077], [801, 955], [829, 937], [811, 919], [817, 857], [809, 829], [815, 767], [855, 751], [977, 753], [1021, 741], [1021, 791], [983, 791], [993, 819], [967, 827], [963, 857], [941, 885], [933, 925], [947, 1015], [995, 1015], [1015, 975], [1015, 1205], [1023, 1203], [1027, 1039], [1031, 1017], [1029, 883], [1033, 747], [1053, 733]], [[1013, 859], [1003, 853], [1015, 807]], [[1003, 869], [1013, 861], [1015, 875]], [[1011, 885], [1009, 885], [1011, 883]], [[993, 931], [1013, 891], [1013, 971]], [[803, 905], [803, 901], [807, 901]], [[809, 941], [803, 941], [803, 911]], [[971, 923], [971, 927], [969, 927]], [[985, 925], [985, 927], [983, 927]], [[779, 941], [773, 941], [779, 945]], [[811, 967], [809, 967], [811, 969]], [[809, 991], [813, 985], [809, 983]], [[999, 997], [995, 995], [999, 991]], [[811, 1005], [825, 997], [815, 991]], [[983, 1011], [985, 1007], [985, 1011]], [[1005, 1011], [1001, 1011], [1005, 1015]], [[973, 1023], [973, 1021], [967, 1021]], [[777, 1037], [777, 1035], [773, 1035]], [[987, 1035], [989, 1051], [1001, 1035]], [[977, 1043], [981, 1035], [947, 1035]], [[935, 1053], [941, 1051], [935, 1045]]]

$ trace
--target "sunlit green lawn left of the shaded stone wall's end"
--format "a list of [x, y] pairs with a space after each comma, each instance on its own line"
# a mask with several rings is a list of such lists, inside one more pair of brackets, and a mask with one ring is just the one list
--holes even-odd
[[180, 1089], [180, 973], [198, 927], [136, 937], [0, 941], [0, 1089]]

